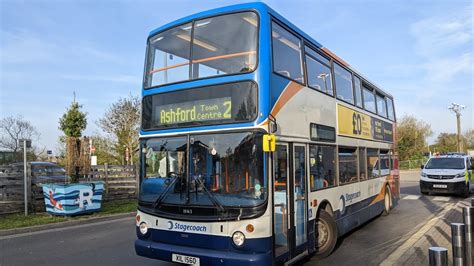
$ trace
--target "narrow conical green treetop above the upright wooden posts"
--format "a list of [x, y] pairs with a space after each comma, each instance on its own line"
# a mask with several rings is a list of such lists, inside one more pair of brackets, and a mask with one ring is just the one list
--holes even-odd
[[87, 113], [81, 112], [82, 105], [74, 99], [69, 109], [59, 119], [59, 129], [66, 137], [80, 138], [87, 126]]

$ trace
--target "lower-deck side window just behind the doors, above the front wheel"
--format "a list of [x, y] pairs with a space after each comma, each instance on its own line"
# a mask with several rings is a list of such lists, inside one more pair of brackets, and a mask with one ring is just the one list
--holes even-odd
[[310, 145], [310, 187], [311, 191], [335, 185], [335, 152], [332, 146]]

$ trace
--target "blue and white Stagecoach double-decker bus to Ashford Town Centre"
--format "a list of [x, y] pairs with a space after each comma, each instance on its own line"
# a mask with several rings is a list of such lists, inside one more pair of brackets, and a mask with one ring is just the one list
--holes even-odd
[[138, 255], [291, 264], [397, 205], [393, 97], [265, 4], [152, 31], [144, 71]]

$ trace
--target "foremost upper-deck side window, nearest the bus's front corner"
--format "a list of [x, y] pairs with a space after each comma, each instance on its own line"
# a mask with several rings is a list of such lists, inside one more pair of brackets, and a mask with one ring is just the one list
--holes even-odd
[[303, 83], [301, 40], [272, 22], [273, 71]]

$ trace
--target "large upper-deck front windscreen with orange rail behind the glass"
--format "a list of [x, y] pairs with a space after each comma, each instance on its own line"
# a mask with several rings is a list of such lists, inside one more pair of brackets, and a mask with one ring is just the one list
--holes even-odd
[[254, 12], [196, 20], [163, 31], [148, 41], [145, 87], [251, 72], [257, 66], [257, 39]]

